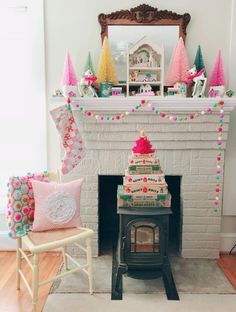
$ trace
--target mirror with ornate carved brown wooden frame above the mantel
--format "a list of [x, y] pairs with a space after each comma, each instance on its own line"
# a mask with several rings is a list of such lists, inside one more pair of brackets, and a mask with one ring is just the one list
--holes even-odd
[[186, 27], [191, 19], [167, 10], [158, 10], [147, 4], [130, 10], [110, 14], [99, 14], [102, 40], [109, 38], [119, 81], [126, 80], [127, 49], [143, 37], [164, 48], [164, 68], [168, 68], [170, 57], [178, 38], [185, 41]]

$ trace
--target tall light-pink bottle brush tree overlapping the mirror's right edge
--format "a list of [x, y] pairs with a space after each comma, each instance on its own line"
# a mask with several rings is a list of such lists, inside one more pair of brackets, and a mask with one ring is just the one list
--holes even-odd
[[188, 80], [189, 62], [183, 38], [180, 37], [174, 49], [167, 72], [166, 85], [186, 83]]

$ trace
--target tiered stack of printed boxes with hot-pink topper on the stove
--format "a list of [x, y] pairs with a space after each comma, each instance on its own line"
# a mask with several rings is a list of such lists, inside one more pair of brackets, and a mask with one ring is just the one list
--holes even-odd
[[118, 186], [118, 207], [170, 207], [171, 195], [160, 161], [144, 131], [132, 151], [123, 185]]

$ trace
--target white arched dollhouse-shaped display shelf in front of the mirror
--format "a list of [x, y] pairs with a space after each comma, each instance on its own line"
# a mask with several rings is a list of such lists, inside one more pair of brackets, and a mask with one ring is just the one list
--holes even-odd
[[127, 95], [132, 95], [136, 88], [136, 95], [155, 95], [159, 91], [158, 94], [163, 96], [163, 46], [143, 37], [130, 48], [127, 58]]

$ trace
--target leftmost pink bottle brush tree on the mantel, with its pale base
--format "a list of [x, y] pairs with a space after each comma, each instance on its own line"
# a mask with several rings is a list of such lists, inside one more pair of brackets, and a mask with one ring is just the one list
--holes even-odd
[[71, 97], [78, 94], [77, 78], [69, 52], [66, 53], [61, 83], [64, 96]]

